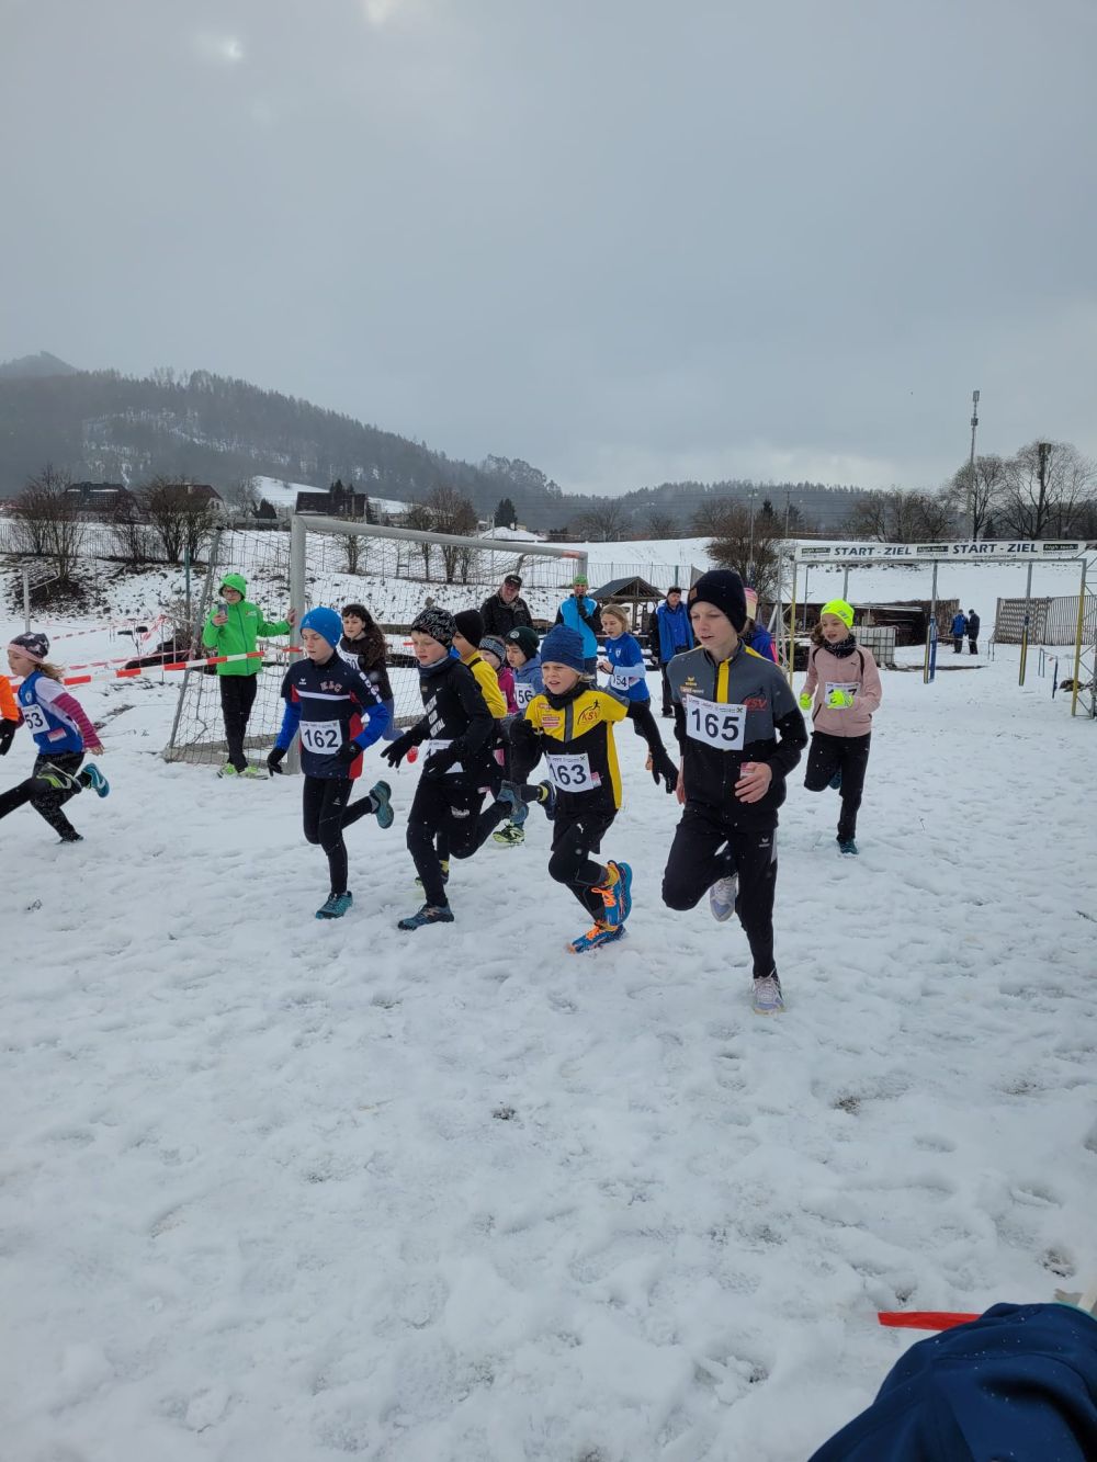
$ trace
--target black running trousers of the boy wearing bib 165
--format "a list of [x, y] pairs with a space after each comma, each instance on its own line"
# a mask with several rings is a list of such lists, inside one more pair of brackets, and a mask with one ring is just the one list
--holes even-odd
[[777, 892], [777, 829], [756, 827], [736, 816], [720, 817], [687, 803], [663, 874], [663, 902], [692, 909], [708, 889], [739, 874], [736, 914], [743, 925], [756, 980], [774, 969], [774, 893]]

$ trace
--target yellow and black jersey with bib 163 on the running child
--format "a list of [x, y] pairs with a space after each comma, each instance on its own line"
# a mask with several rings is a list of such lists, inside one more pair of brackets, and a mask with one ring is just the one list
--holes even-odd
[[525, 719], [546, 738], [541, 744], [548, 781], [566, 810], [617, 811], [620, 770], [613, 724], [629, 708], [604, 690], [579, 690], [573, 697], [534, 696]]

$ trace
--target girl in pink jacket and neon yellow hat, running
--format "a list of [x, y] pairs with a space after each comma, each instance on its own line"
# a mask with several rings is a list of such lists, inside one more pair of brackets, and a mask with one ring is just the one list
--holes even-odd
[[823, 604], [819, 632], [822, 645], [807, 652], [807, 680], [800, 696], [800, 708], [812, 711], [812, 750], [803, 784], [809, 792], [832, 787], [841, 794], [838, 849], [856, 855], [872, 713], [879, 711], [883, 687], [872, 651], [863, 649], [853, 635], [851, 604], [845, 599]]

